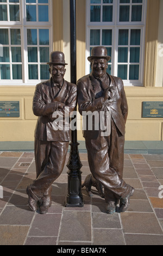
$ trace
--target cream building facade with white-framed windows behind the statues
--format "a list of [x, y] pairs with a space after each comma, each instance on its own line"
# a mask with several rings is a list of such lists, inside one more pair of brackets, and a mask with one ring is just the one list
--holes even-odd
[[[126, 141], [162, 141], [163, 0], [76, 0], [76, 13], [77, 79], [90, 72], [91, 48], [105, 46], [108, 72], [123, 79], [127, 95]], [[32, 100], [36, 84], [49, 78], [51, 51], [65, 53], [71, 80], [69, 1], [3, 0], [0, 35], [1, 141], [33, 141]]]

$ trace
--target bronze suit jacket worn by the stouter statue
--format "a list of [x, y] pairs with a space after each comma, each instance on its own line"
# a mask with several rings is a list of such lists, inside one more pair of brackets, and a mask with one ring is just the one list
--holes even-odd
[[[121, 78], [115, 76], [108, 76], [108, 84], [105, 84], [105, 88], [112, 87], [110, 90], [110, 99], [104, 102], [103, 93], [96, 93], [97, 80], [93, 77], [92, 73], [80, 78], [77, 82], [78, 88], [78, 105], [79, 113], [82, 115], [83, 111], [109, 111], [112, 120], [120, 131], [121, 135], [125, 133], [125, 124], [128, 115], [128, 105], [126, 94], [124, 92], [124, 86]], [[96, 139], [100, 133], [99, 130], [89, 131], [84, 130], [83, 136], [85, 138]]]

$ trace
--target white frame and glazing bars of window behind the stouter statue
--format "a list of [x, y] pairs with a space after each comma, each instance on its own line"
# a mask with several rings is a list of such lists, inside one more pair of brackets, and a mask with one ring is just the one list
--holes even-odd
[[[86, 0], [86, 65], [85, 65], [85, 74], [89, 74], [90, 63], [87, 60], [87, 57], [90, 56], [90, 30], [91, 29], [112, 29], [112, 58], [111, 64], [111, 75], [117, 76], [118, 69], [118, 29], [141, 29], [141, 39], [140, 39], [140, 62], [139, 66], [139, 80], [123, 80], [124, 86], [143, 86], [143, 65], [144, 65], [144, 56], [145, 56], [145, 31], [146, 31], [146, 14], [147, 14], [147, 0], [143, 0], [142, 3], [142, 21], [141, 22], [119, 22], [119, 6], [120, 0], [113, 0], [113, 15], [112, 22], [90, 22], [90, 0]], [[96, 4], [102, 5], [102, 4]], [[127, 5], [127, 4], [122, 4]], [[131, 3], [130, 3], [131, 5]], [[140, 3], [134, 3], [134, 5], [140, 5]], [[144, 15], [143, 15], [144, 14]], [[102, 8], [101, 8], [102, 15]], [[131, 16], [131, 8], [130, 8]], [[102, 19], [102, 18], [101, 18]], [[133, 25], [134, 23], [134, 25]], [[129, 33], [130, 34], [130, 33]], [[130, 41], [129, 41], [130, 42]], [[102, 45], [102, 41], [101, 41]], [[108, 46], [109, 47], [109, 46]], [[133, 45], [124, 45], [123, 47], [134, 47]], [[129, 54], [128, 54], [128, 65], [129, 69]], [[121, 63], [123, 64], [123, 63]], [[132, 63], [131, 63], [132, 64]], [[136, 65], [137, 63], [134, 63]], [[129, 76], [129, 71], [128, 71]]]

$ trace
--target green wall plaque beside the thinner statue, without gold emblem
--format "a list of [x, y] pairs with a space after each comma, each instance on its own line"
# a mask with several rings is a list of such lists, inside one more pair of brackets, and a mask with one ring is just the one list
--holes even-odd
[[20, 117], [19, 101], [0, 101], [0, 117]]

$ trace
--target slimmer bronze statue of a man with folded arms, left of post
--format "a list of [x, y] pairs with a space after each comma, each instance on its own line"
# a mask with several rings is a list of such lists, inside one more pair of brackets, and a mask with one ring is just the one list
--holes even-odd
[[[33, 112], [38, 116], [35, 129], [36, 179], [27, 187], [28, 205], [46, 214], [51, 206], [52, 183], [64, 168], [70, 129], [54, 129], [53, 121], [58, 115], [65, 117], [76, 107], [77, 86], [64, 80], [65, 56], [52, 52], [49, 72], [51, 79], [36, 85], [33, 98]], [[66, 109], [66, 111], [65, 111]], [[54, 113], [57, 113], [54, 115]]]

